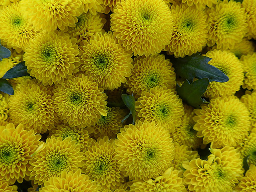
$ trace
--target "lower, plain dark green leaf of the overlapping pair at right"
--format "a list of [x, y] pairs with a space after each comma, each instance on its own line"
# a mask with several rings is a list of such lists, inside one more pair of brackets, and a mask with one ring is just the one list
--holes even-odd
[[176, 86], [177, 94], [180, 95], [180, 98], [183, 102], [186, 102], [188, 105], [191, 105], [195, 108], [199, 108], [204, 100], [201, 98], [203, 93], [206, 91], [209, 84], [208, 78], [197, 79], [193, 83], [189, 83], [186, 79], [182, 86]]

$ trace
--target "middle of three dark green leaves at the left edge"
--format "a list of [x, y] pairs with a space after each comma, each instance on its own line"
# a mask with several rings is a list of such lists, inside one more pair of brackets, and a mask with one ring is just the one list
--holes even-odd
[[25, 65], [25, 61], [22, 61], [21, 63], [15, 65], [13, 68], [11, 68], [9, 71], [7, 71], [3, 78], [4, 79], [12, 79], [22, 76], [27, 76], [29, 73], [27, 72], [27, 67]]

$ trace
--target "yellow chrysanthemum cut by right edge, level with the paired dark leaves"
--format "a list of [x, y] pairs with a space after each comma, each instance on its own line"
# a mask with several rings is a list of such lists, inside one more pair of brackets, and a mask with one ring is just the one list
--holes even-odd
[[244, 68], [244, 89], [256, 89], [256, 53], [242, 55], [241, 61]]

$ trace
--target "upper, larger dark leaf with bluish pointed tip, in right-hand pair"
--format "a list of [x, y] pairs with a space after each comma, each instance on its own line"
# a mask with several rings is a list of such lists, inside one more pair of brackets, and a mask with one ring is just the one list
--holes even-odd
[[211, 58], [194, 54], [184, 58], [172, 59], [173, 67], [177, 75], [193, 82], [193, 78], [208, 78], [209, 82], [227, 82], [229, 80], [222, 71], [208, 64]]

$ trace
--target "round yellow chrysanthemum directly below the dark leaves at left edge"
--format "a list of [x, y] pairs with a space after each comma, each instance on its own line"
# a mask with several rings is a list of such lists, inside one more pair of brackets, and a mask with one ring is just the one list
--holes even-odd
[[10, 117], [15, 124], [38, 133], [51, 130], [58, 123], [52, 92], [36, 80], [27, 80], [15, 89], [10, 97]]

